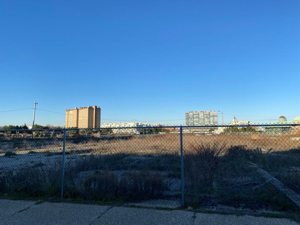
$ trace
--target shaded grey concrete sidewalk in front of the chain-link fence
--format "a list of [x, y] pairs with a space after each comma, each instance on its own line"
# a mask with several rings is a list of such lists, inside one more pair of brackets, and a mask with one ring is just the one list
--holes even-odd
[[263, 224], [296, 225], [288, 219], [193, 213], [180, 210], [0, 199], [0, 224]]

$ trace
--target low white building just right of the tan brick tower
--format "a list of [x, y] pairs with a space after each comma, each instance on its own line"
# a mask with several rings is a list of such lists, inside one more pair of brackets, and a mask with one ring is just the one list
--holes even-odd
[[149, 123], [125, 122], [125, 123], [104, 123], [101, 128], [112, 129], [113, 133], [134, 133], [139, 134], [143, 127], [149, 127]]

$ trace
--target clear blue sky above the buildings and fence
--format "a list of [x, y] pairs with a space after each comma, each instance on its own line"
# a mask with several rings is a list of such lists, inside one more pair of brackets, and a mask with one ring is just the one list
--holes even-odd
[[[0, 111], [36, 100], [60, 113], [100, 106], [102, 123], [184, 124], [192, 110], [292, 121], [299, 22], [298, 0], [1, 1]], [[36, 112], [38, 124], [64, 119]], [[24, 123], [32, 110], [0, 113], [0, 125]]]

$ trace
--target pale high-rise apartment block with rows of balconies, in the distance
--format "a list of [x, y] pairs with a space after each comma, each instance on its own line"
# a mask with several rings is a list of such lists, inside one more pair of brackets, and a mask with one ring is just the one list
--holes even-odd
[[185, 113], [185, 124], [191, 125], [216, 125], [218, 112], [216, 111], [188, 111]]

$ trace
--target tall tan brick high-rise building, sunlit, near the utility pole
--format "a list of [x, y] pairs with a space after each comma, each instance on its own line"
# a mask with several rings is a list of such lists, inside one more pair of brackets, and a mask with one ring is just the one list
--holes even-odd
[[97, 106], [66, 109], [66, 128], [100, 128], [101, 108]]

